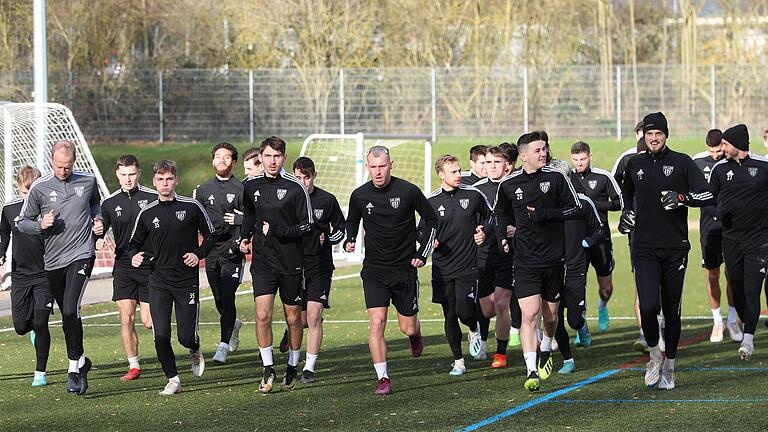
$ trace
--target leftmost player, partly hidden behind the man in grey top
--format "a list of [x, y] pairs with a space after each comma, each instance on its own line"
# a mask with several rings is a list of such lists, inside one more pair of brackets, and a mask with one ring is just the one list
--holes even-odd
[[11, 254], [11, 317], [19, 335], [30, 333], [35, 346], [35, 375], [32, 387], [48, 384], [46, 367], [51, 349], [48, 319], [53, 314], [53, 294], [43, 263], [45, 245], [39, 234], [19, 231], [19, 213], [32, 183], [40, 178], [40, 171], [24, 165], [16, 173], [19, 198], [6, 202], [0, 217], [0, 266], [5, 264], [5, 253], [13, 237]]

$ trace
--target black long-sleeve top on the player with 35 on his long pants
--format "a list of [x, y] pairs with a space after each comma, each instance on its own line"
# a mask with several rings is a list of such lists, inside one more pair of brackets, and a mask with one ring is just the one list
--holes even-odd
[[[198, 244], [197, 233], [203, 234]], [[171, 289], [198, 288], [198, 266], [184, 264], [184, 255], [192, 252], [205, 258], [216, 242], [208, 214], [193, 198], [176, 196], [171, 201], [153, 201], [139, 212], [131, 235], [129, 254], [144, 252], [152, 261], [150, 283]]]

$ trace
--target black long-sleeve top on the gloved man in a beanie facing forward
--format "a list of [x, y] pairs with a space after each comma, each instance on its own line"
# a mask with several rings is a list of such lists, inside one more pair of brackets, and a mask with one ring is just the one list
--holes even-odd
[[665, 190], [686, 195], [691, 207], [715, 203], [704, 175], [687, 154], [669, 147], [656, 154], [638, 154], [627, 163], [624, 176], [624, 206], [636, 213], [632, 247], [691, 248], [688, 207], [665, 210], [661, 202]]

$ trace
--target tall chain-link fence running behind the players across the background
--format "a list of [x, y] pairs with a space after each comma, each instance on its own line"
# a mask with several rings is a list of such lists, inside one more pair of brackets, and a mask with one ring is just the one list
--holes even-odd
[[[672, 134], [768, 125], [768, 76], [755, 66], [561, 66], [53, 71], [49, 99], [89, 140], [251, 141], [312, 133], [570, 138], [632, 134], [664, 111]], [[29, 101], [32, 74], [0, 73], [0, 100]]]

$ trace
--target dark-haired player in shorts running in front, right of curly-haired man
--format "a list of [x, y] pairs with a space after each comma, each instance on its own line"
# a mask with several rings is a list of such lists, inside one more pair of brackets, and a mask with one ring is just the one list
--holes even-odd
[[272, 311], [278, 291], [290, 329], [283, 388], [291, 390], [296, 385], [304, 333], [301, 322], [305, 268], [303, 237], [311, 233], [314, 219], [304, 185], [283, 169], [287, 157], [285, 141], [272, 136], [262, 141], [259, 149], [264, 172], [245, 182], [245, 220], [240, 234], [240, 250], [246, 253], [253, 238], [251, 276], [256, 302], [256, 339], [264, 365], [259, 391], [269, 393], [277, 376], [272, 357]]

